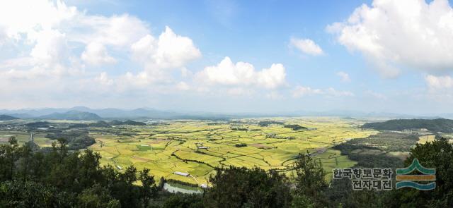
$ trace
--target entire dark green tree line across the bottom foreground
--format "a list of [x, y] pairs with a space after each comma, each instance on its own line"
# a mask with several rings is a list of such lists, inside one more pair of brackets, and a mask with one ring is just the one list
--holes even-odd
[[453, 207], [453, 148], [440, 139], [411, 149], [436, 169], [437, 188], [419, 191], [352, 191], [349, 180], [325, 181], [319, 160], [299, 154], [290, 176], [258, 167], [216, 168], [203, 194], [173, 194], [133, 166], [101, 166], [87, 149], [69, 151], [58, 140], [50, 151], [33, 151], [11, 138], [0, 145], [0, 207]]

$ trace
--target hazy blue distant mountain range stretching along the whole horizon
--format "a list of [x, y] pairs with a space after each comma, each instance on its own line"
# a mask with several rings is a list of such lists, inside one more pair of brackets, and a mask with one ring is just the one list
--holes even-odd
[[394, 114], [386, 112], [363, 112], [363, 111], [292, 111], [281, 113], [238, 113], [218, 114], [210, 112], [176, 112], [159, 111], [156, 109], [91, 109], [85, 106], [76, 106], [70, 109], [18, 109], [0, 110], [0, 114], [16, 118], [36, 119], [67, 119], [67, 120], [101, 120], [101, 119], [230, 119], [230, 118], [253, 118], [271, 116], [337, 116], [344, 118], [453, 118], [453, 114], [435, 116], [414, 116], [409, 114]]

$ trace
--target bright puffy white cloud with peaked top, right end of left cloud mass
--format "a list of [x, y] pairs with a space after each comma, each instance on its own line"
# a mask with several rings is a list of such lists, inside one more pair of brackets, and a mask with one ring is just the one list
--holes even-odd
[[201, 57], [192, 39], [176, 35], [170, 27], [155, 39], [146, 35], [132, 44], [135, 59], [151, 68], [179, 68]]

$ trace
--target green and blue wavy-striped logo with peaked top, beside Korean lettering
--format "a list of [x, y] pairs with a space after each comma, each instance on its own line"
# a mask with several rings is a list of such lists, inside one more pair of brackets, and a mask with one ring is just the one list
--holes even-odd
[[[421, 175], [409, 175], [414, 170], [422, 173]], [[413, 159], [411, 166], [406, 169], [396, 169], [396, 189], [416, 188], [418, 190], [433, 190], [436, 188], [436, 170], [423, 167], [418, 159]], [[431, 183], [417, 183], [414, 181], [432, 181]]]

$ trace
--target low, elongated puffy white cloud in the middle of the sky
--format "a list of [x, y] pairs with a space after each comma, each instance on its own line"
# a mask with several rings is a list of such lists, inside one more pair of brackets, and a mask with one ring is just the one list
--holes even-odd
[[229, 57], [225, 57], [217, 66], [208, 66], [198, 72], [198, 80], [212, 85], [236, 85], [256, 86], [274, 89], [285, 85], [285, 66], [281, 63], [273, 63], [270, 68], [256, 71], [251, 63], [233, 63]]

